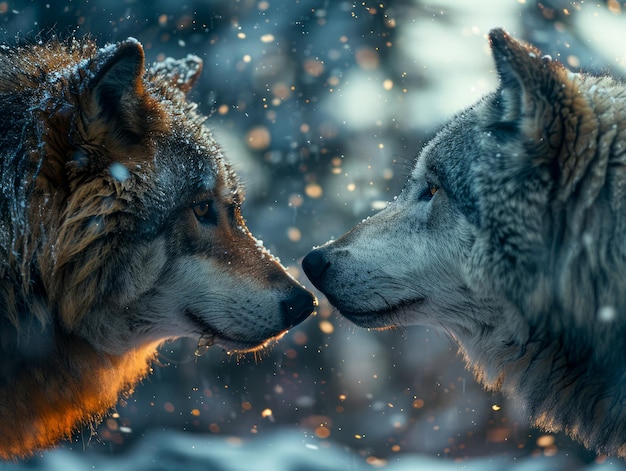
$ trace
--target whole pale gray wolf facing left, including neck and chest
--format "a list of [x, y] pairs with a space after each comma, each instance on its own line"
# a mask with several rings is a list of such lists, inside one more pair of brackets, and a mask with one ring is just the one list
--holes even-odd
[[441, 328], [537, 426], [626, 457], [626, 87], [489, 40], [499, 88], [303, 268], [355, 324]]

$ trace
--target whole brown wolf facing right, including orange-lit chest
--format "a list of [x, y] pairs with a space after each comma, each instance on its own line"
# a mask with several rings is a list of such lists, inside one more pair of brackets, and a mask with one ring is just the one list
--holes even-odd
[[102, 417], [158, 346], [263, 348], [315, 297], [246, 228], [243, 190], [140, 43], [0, 51], [0, 457]]

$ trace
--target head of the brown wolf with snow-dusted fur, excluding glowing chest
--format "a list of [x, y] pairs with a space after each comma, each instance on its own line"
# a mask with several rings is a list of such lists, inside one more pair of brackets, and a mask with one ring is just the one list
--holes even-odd
[[18, 330], [30, 311], [107, 353], [180, 336], [249, 350], [312, 312], [246, 228], [243, 190], [186, 101], [199, 59], [146, 73], [129, 39], [5, 61], [5, 131], [25, 154], [3, 168], [17, 188], [3, 202], [2, 262], [26, 286], [8, 309]]

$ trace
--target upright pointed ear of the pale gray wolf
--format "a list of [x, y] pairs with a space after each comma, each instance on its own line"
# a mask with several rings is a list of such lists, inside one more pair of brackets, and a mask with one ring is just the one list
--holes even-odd
[[535, 47], [515, 41], [502, 29], [492, 30], [489, 42], [501, 84], [500, 121], [534, 117], [563, 80], [563, 66], [549, 56], [542, 57]]

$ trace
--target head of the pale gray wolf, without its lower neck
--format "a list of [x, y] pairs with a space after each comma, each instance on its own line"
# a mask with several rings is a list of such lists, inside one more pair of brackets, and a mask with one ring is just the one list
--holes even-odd
[[611, 301], [626, 306], [617, 280], [584, 281], [619, 273], [606, 251], [626, 248], [615, 168], [624, 87], [573, 74], [501, 30], [489, 39], [499, 89], [425, 146], [386, 209], [304, 259], [358, 324], [439, 323], [476, 296], [551, 329], [585, 323], [581, 312], [593, 317]]

